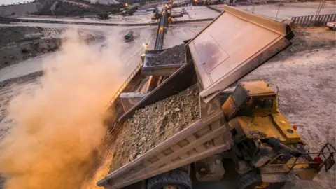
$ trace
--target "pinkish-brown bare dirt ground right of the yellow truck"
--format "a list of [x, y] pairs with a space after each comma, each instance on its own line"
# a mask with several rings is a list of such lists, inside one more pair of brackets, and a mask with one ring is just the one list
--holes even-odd
[[[335, 31], [328, 28], [299, 28], [293, 45], [242, 79], [263, 79], [279, 87], [279, 110], [298, 125], [311, 152], [326, 142], [336, 146], [335, 41]], [[285, 188], [335, 188], [335, 171], [334, 166], [314, 181], [294, 180]]]

